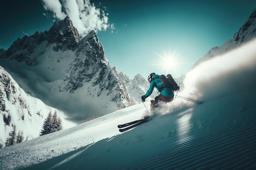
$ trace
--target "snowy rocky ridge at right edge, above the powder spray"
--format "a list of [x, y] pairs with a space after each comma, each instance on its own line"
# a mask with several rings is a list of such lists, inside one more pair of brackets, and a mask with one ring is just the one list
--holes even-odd
[[[191, 68], [195, 68], [200, 65], [202, 62], [207, 60], [211, 60], [212, 58], [223, 55], [229, 51], [232, 51], [239, 46], [245, 44], [256, 38], [256, 9], [252, 11], [252, 14], [249, 16], [245, 24], [240, 27], [239, 31], [234, 34], [233, 39], [227, 40], [222, 46], [213, 47], [210, 51], [208, 51], [202, 58], [200, 58], [197, 62], [195, 62], [194, 66]], [[242, 57], [242, 56], [241, 56]]]

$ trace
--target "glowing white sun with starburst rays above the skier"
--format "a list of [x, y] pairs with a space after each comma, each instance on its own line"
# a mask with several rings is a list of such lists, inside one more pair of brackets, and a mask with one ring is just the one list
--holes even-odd
[[180, 52], [179, 54], [175, 55], [175, 51], [173, 53], [171, 53], [170, 51], [169, 51], [169, 53], [166, 53], [164, 51], [164, 56], [155, 53], [156, 55], [158, 55], [162, 59], [159, 64], [154, 64], [154, 65], [162, 66], [162, 70], [160, 72], [166, 71], [166, 73], [168, 73], [168, 71], [173, 70], [175, 72], [175, 74], [177, 74], [176, 73], [176, 68], [180, 64], [179, 62], [177, 62], [177, 57], [182, 52]]

